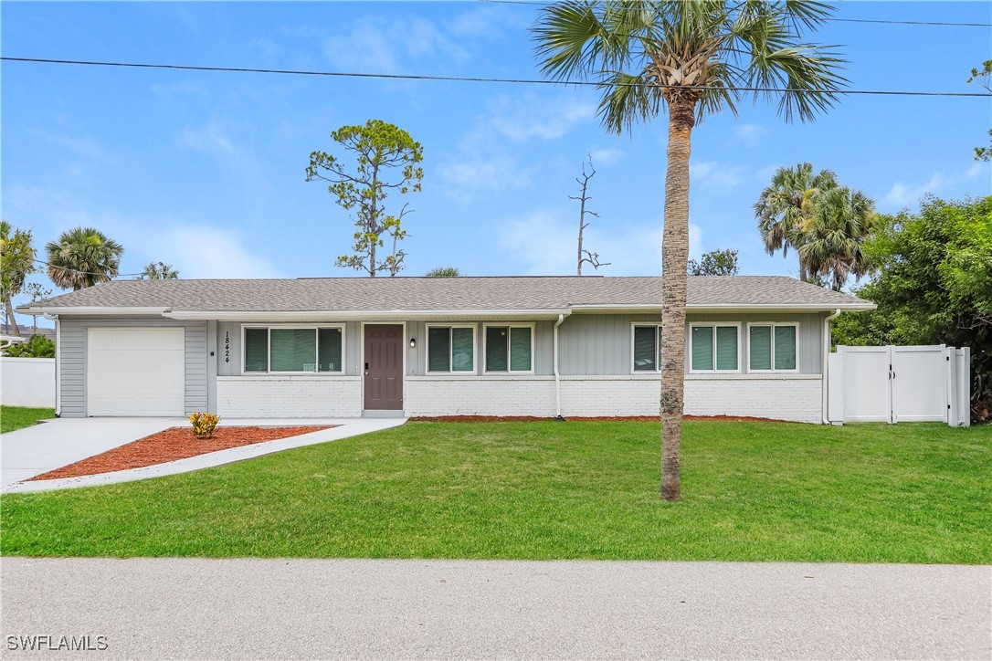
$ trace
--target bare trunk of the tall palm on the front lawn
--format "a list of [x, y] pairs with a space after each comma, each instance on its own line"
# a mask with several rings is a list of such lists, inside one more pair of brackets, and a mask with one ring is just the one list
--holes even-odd
[[682, 496], [682, 390], [688, 267], [688, 157], [695, 99], [669, 99], [669, 168], [662, 239], [662, 497]]

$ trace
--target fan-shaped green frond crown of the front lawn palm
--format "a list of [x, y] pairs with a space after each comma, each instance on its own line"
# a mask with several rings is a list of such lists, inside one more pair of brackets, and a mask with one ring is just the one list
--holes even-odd
[[836, 48], [803, 36], [832, 11], [821, 0], [562, 0], [541, 10], [532, 36], [546, 76], [601, 83], [611, 131], [650, 119], [676, 96], [696, 103], [696, 119], [736, 112], [745, 94], [736, 87], [762, 88], [755, 100], [777, 103], [787, 121], [809, 121], [847, 83]]

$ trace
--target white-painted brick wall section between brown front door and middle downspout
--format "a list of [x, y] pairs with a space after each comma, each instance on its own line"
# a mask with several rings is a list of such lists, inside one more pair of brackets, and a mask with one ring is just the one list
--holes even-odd
[[407, 377], [407, 415], [555, 415], [554, 377]]

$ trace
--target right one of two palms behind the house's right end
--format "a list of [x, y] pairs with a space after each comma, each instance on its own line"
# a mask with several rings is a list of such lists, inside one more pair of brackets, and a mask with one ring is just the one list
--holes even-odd
[[874, 224], [875, 203], [863, 192], [846, 186], [827, 190], [812, 207], [800, 262], [840, 291], [848, 276], [860, 278], [871, 269], [864, 240]]

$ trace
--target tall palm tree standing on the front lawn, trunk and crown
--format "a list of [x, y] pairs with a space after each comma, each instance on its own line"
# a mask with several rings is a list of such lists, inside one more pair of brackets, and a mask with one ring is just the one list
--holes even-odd
[[545, 75], [591, 79], [607, 131], [669, 114], [662, 240], [662, 489], [681, 496], [688, 159], [692, 128], [744, 93], [778, 99], [787, 121], [812, 119], [845, 82], [831, 49], [804, 41], [831, 8], [815, 0], [565, 0], [541, 10], [533, 36]]

